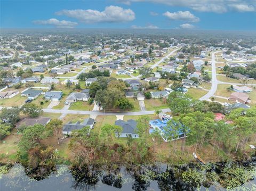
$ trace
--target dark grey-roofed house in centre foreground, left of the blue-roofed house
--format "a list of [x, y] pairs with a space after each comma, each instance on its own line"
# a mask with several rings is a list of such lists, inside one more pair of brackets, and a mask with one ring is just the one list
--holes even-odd
[[[132, 138], [139, 138], [137, 130], [137, 122], [133, 119], [129, 119], [128, 121], [124, 120], [116, 120], [115, 122], [116, 126], [120, 126], [123, 128], [123, 131], [119, 135], [119, 137], [132, 137]], [[118, 137], [118, 134], [116, 134], [116, 137]]]

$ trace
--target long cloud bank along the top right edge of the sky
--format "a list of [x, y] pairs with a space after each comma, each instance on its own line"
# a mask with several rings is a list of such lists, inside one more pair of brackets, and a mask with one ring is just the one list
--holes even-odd
[[255, 0], [126, 0], [131, 2], [151, 2], [176, 7], [187, 7], [195, 11], [225, 13], [227, 11], [256, 11]]

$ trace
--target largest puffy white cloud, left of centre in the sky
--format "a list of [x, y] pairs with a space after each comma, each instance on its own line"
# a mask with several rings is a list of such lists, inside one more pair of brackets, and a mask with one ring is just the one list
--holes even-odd
[[135, 13], [131, 9], [123, 9], [119, 6], [107, 6], [105, 10], [62, 10], [56, 13], [57, 15], [66, 15], [71, 18], [76, 18], [85, 23], [99, 22], [127, 22], [135, 19]]

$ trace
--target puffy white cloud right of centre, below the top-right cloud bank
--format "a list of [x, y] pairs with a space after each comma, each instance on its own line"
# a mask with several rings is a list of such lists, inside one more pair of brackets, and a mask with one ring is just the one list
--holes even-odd
[[200, 19], [196, 17], [194, 14], [189, 11], [177, 11], [170, 13], [169, 11], [163, 13], [164, 16], [171, 20], [179, 20], [179, 21], [190, 21], [190, 22], [198, 22]]

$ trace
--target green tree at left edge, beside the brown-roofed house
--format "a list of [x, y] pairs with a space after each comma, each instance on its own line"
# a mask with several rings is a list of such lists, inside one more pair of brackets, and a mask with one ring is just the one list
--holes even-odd
[[5, 120], [6, 122], [9, 122], [12, 124], [12, 126], [14, 126], [14, 124], [20, 120], [19, 114], [20, 114], [19, 107], [12, 107], [10, 109], [7, 109], [6, 107], [4, 107], [0, 114], [0, 119]]

